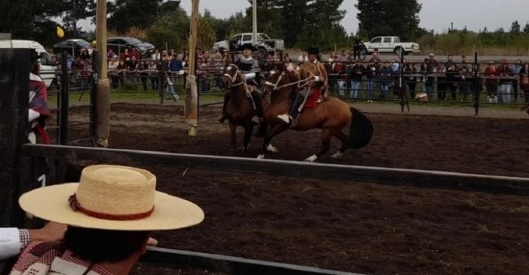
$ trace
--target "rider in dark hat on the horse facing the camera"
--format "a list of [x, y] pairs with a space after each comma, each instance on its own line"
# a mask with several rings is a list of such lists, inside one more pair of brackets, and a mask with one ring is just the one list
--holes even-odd
[[[253, 87], [252, 92], [250, 93], [255, 102], [255, 114], [252, 118], [254, 123], [259, 124], [262, 121], [262, 106], [261, 106], [261, 69], [259, 68], [259, 63], [257, 60], [253, 59], [253, 51], [257, 51], [253, 44], [243, 44], [240, 48], [243, 51], [242, 56], [239, 56], [238, 60], [235, 61], [235, 65], [241, 70], [243, 77], [246, 80], [248, 86]], [[227, 92], [224, 96], [224, 105], [222, 106], [222, 114], [219, 117], [219, 122], [224, 123], [226, 119], [226, 105], [229, 102], [230, 93]]]

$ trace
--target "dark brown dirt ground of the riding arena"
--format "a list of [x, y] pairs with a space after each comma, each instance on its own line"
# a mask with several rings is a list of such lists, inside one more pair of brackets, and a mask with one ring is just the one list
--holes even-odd
[[[200, 110], [186, 136], [177, 106], [113, 104], [111, 147], [256, 157], [230, 151], [229, 130]], [[322, 162], [529, 177], [529, 119], [368, 113], [370, 145]], [[72, 109], [83, 121], [87, 109]], [[87, 130], [73, 130], [80, 138]], [[241, 135], [239, 135], [240, 138]], [[274, 159], [302, 160], [319, 131], [289, 132]], [[332, 152], [339, 144], [333, 144]], [[529, 198], [144, 166], [158, 188], [196, 202], [205, 221], [156, 233], [161, 247], [368, 274], [524, 274]], [[213, 274], [140, 264], [135, 274]]]

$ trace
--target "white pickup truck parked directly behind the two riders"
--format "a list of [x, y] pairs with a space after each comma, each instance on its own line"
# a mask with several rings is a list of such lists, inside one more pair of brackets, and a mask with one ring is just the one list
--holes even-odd
[[[253, 44], [252, 37], [253, 34], [251, 32], [233, 35], [229, 40], [213, 44], [213, 52], [217, 52], [221, 48], [226, 51], [236, 51], [238, 47], [241, 47], [243, 44]], [[260, 55], [265, 57], [267, 53], [283, 51], [285, 49], [285, 44], [283, 39], [271, 39], [265, 33], [260, 32], [257, 33], [257, 44], [255, 44], [255, 47], [259, 50]]]

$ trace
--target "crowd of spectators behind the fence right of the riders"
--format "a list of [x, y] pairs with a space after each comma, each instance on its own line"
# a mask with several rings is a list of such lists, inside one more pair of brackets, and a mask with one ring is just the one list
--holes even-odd
[[[302, 59], [303, 54], [298, 61]], [[382, 61], [375, 51], [364, 62], [354, 60], [346, 51], [340, 54], [333, 51], [324, 62], [332, 90], [353, 100], [360, 99], [360, 92], [365, 92], [365, 100], [372, 102], [399, 97], [399, 92], [404, 90], [412, 99], [420, 99], [425, 94], [429, 100], [467, 102], [473, 92], [482, 91], [484, 80], [489, 102], [512, 103], [522, 98], [529, 102], [529, 63], [521, 60], [508, 63], [503, 59], [499, 65], [490, 62], [479, 72], [465, 55], [460, 62], [455, 62], [451, 55], [444, 62], [437, 61], [434, 54], [420, 63], [406, 59], [401, 62], [399, 58], [390, 62]]]

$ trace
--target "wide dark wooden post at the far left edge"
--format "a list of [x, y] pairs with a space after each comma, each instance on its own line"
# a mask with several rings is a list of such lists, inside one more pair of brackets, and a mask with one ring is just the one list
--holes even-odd
[[30, 50], [0, 49], [0, 71], [0, 226], [12, 226], [20, 173], [28, 173], [19, 170], [19, 157], [28, 140]]

